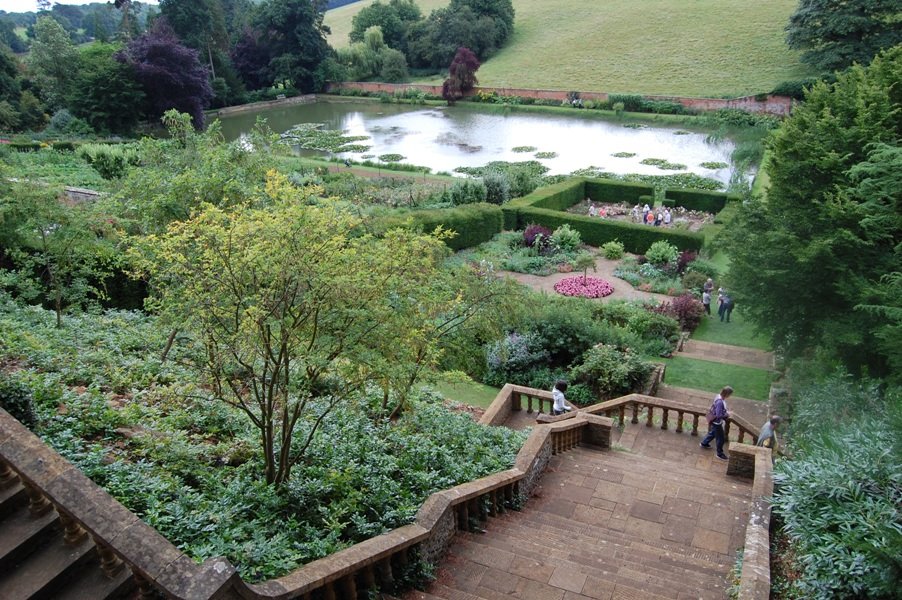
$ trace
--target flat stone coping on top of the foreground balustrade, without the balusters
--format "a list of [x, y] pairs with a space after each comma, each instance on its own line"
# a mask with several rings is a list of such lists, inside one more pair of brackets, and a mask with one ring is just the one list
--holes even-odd
[[431, 544], [431, 556], [443, 553], [450, 543], [447, 523], [457, 506], [507, 486], [517, 486], [520, 494], [528, 496], [553, 453], [553, 435], [580, 427], [610, 430], [611, 420], [586, 415], [566, 423], [537, 426], [517, 454], [513, 468], [436, 492], [426, 499], [414, 523], [259, 584], [242, 581], [225, 558], [195, 563], [2, 409], [0, 458], [23, 482], [38, 489], [57, 510], [87, 530], [95, 542], [107, 545], [132, 572], [169, 598], [289, 599], [353, 575], [416, 544]]

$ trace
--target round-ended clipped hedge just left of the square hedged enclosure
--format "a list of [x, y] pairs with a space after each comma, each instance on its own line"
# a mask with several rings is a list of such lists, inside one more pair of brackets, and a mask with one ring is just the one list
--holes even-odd
[[443, 229], [457, 232], [451, 239], [445, 240], [452, 250], [472, 248], [501, 233], [504, 218], [501, 207], [495, 204], [467, 204], [456, 208], [434, 210], [414, 210], [405, 213], [382, 217], [377, 221], [376, 229], [385, 231], [402, 226], [408, 219], [413, 220], [414, 227], [431, 233], [439, 225]]

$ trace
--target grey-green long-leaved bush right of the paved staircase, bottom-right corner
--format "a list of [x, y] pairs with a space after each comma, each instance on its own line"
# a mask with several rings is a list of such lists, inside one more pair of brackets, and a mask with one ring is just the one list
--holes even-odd
[[841, 374], [796, 394], [793, 459], [777, 463], [774, 510], [805, 598], [898, 597], [902, 395]]

